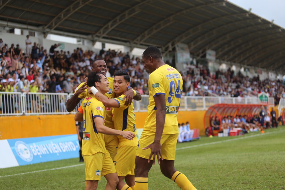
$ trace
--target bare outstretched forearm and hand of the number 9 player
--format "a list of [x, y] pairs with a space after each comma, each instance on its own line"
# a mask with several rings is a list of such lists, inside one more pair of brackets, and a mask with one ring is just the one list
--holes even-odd
[[94, 117], [93, 120], [94, 120], [96, 129], [97, 129], [97, 132], [99, 133], [103, 133], [106, 135], [119, 135], [129, 140], [132, 140], [135, 137], [135, 134], [133, 134], [130, 131], [120, 131], [120, 130], [115, 130], [115, 129], [106, 127], [104, 125], [104, 119], [100, 116]]

